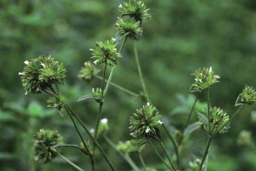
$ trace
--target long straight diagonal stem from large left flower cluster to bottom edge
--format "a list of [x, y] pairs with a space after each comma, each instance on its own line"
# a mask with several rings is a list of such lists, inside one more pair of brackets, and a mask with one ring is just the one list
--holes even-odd
[[86, 127], [86, 125], [84, 124], [84, 122], [79, 118], [79, 116], [67, 105], [69, 111], [72, 113], [72, 115], [76, 118], [76, 120], [78, 120], [78, 122], [81, 124], [81, 126], [84, 128], [84, 130], [86, 131], [86, 133], [89, 135], [89, 137], [92, 139], [93, 143], [95, 144], [95, 146], [99, 149], [99, 151], [101, 152], [102, 156], [104, 157], [104, 159], [106, 160], [106, 162], [108, 163], [109, 167], [111, 168], [112, 171], [116, 171], [115, 167], [113, 166], [112, 162], [109, 160], [107, 154], [104, 152], [104, 150], [102, 149], [102, 147], [100, 146], [100, 144], [98, 143], [98, 141], [96, 140], [96, 138], [91, 134], [91, 132], [89, 131], [89, 129]]

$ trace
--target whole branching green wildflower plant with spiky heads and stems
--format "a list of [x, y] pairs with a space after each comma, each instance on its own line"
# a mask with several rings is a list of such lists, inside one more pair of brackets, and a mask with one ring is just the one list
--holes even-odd
[[[92, 52], [91, 58], [93, 59], [93, 62], [85, 62], [84, 67], [79, 72], [79, 77], [82, 79], [89, 81], [96, 77], [102, 81], [101, 87], [97, 87], [96, 89], [94, 88], [91, 95], [85, 95], [78, 99], [78, 102], [93, 99], [99, 103], [94, 127], [93, 125], [86, 125], [80, 119], [79, 115], [76, 114], [76, 112], [67, 104], [64, 95], [58, 88], [59, 84], [64, 85], [64, 78], [66, 77], [66, 69], [62, 63], [56, 61], [50, 55], [42, 55], [24, 62], [24, 70], [18, 74], [21, 76], [25, 95], [41, 94], [42, 92], [47, 93], [50, 96], [47, 99], [47, 107], [57, 109], [60, 114], [63, 114], [62, 111], [65, 109], [66, 114], [73, 123], [74, 128], [82, 141], [79, 145], [63, 144], [62, 136], [60, 136], [57, 131], [41, 129], [34, 136], [36, 160], [48, 163], [56, 156], [59, 156], [75, 169], [84, 171], [82, 168], [60, 154], [60, 148], [71, 147], [79, 149], [83, 154], [88, 156], [91, 161], [91, 169], [92, 171], [95, 171], [95, 149], [97, 148], [100, 152], [100, 154], [97, 155], [102, 155], [111, 171], [116, 171], [113, 163], [98, 142], [99, 137], [104, 137], [106, 142], [110, 145], [109, 147], [115, 149], [134, 171], [141, 171], [141, 169], [137, 165], [137, 162], [134, 162], [129, 156], [129, 153], [132, 152], [138, 153], [144, 170], [155, 170], [154, 168], [147, 167], [143, 160], [141, 153], [142, 149], [145, 149], [144, 151], [148, 150], [148, 146], [146, 146], [146, 144], [151, 147], [152, 151], [159, 157], [168, 170], [178, 171], [190, 168], [192, 170], [202, 171], [203, 166], [205, 168], [204, 170], [207, 170], [207, 162], [205, 162], [205, 160], [209, 157], [209, 148], [212, 139], [216, 134], [226, 133], [230, 129], [231, 121], [233, 121], [235, 116], [243, 109], [243, 107], [255, 104], [255, 89], [250, 86], [246, 86], [244, 88], [236, 102], [236, 106], [240, 105], [240, 108], [233, 115], [229, 116], [222, 109], [218, 107], [211, 107], [210, 105], [210, 88], [214, 86], [215, 83], [219, 82], [218, 79], [220, 76], [214, 74], [212, 67], [199, 68], [193, 74], [195, 78], [191, 87], [191, 92], [195, 92], [197, 95], [194, 99], [194, 103], [188, 114], [187, 120], [184, 122], [185, 124], [181, 129], [170, 131], [169, 123], [162, 121], [162, 116], [157, 110], [157, 107], [151, 103], [149, 92], [143, 79], [138, 50], [136, 47], [136, 41], [138, 40], [137, 36], [142, 35], [143, 23], [151, 18], [151, 14], [148, 13], [149, 8], [147, 8], [140, 0], [129, 0], [129, 2], [123, 2], [119, 5], [119, 11], [121, 12], [121, 18], [118, 17], [115, 24], [117, 27], [116, 37], [104, 42], [97, 41], [95, 47], [90, 49]], [[138, 90], [140, 93], [134, 93], [111, 82], [115, 67], [122, 57], [121, 52], [127, 39], [132, 39], [132, 41], [134, 41], [134, 56], [142, 88], [142, 90]], [[100, 70], [96, 68], [96, 65], [100, 64], [104, 65], [102, 77], [98, 75]], [[111, 68], [108, 79], [106, 79], [107, 67]], [[133, 139], [125, 142], [119, 142], [118, 145], [112, 142], [107, 136], [108, 130], [110, 129], [108, 122], [111, 122], [111, 120], [108, 121], [106, 118], [101, 119], [103, 114], [102, 109], [104, 105], [104, 98], [107, 95], [110, 85], [134, 96], [135, 99], [142, 96], [142, 100], [147, 102], [146, 105], [139, 107], [139, 109], [130, 116], [129, 129], [130, 135]], [[203, 111], [197, 112], [199, 121], [190, 124], [191, 115], [195, 110], [199, 95], [202, 92], [206, 94], [207, 107]], [[86, 137], [81, 133], [81, 127], [78, 126], [78, 123], [88, 135], [88, 139], [85, 139]], [[89, 124], [91, 124], [91, 122]], [[88, 127], [92, 129], [90, 130]], [[206, 135], [208, 137], [203, 156], [201, 160], [197, 159], [194, 162], [187, 163], [187, 165], [185, 165], [184, 163], [186, 162], [180, 162], [183, 160], [180, 156], [183, 148], [180, 148], [180, 146], [182, 146], [185, 136], [200, 128], [204, 128], [206, 130]], [[162, 142], [163, 135], [161, 129], [164, 129], [167, 137], [170, 139], [174, 147], [175, 163], [172, 161], [173, 158], [170, 157], [169, 151], [166, 150]], [[112, 134], [114, 134], [114, 132], [112, 132]], [[239, 135], [238, 144], [244, 145], [250, 143], [251, 140], [249, 137], [248, 132], [242, 132]], [[165, 156], [160, 155], [158, 150], [154, 147], [154, 144], [151, 142], [154, 140], [159, 143]], [[164, 157], [166, 157], [167, 160], [165, 160]]]

